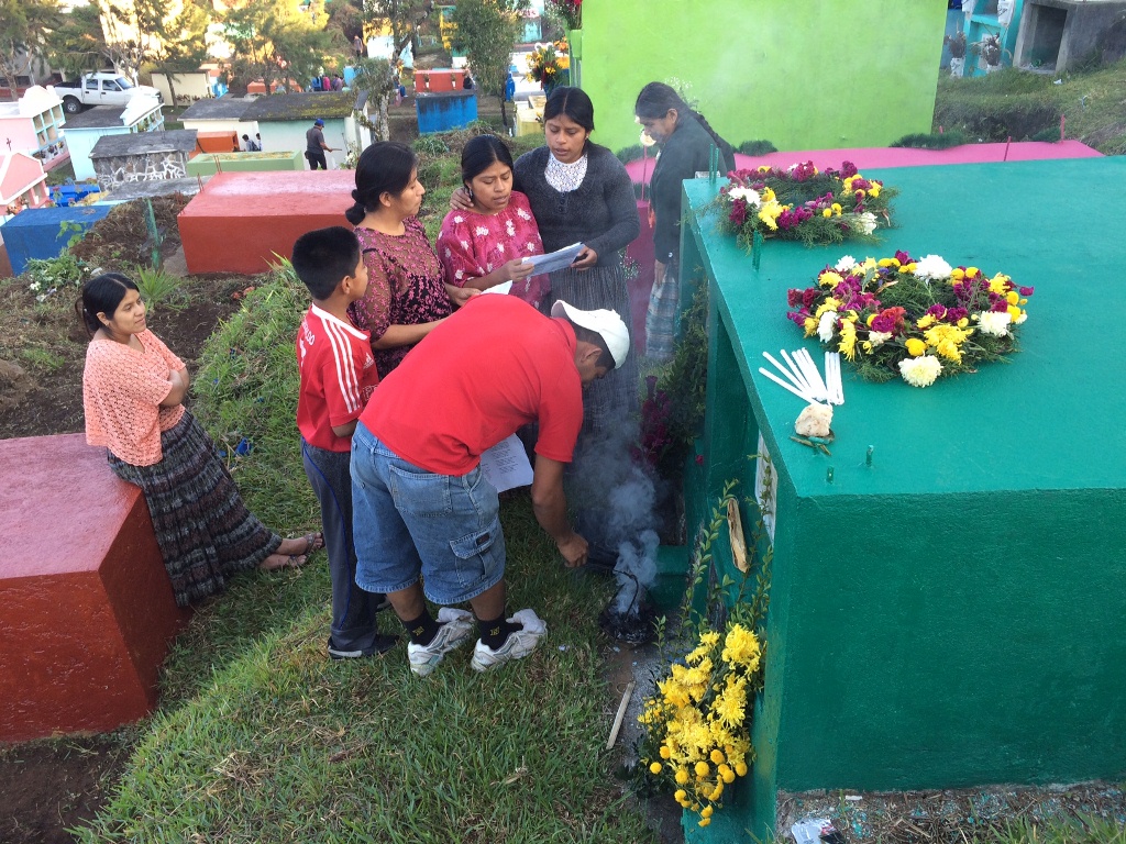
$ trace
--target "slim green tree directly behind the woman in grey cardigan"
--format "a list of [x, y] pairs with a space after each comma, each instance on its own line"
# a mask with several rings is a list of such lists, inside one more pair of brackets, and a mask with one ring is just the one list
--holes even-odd
[[500, 100], [500, 116], [508, 126], [504, 86], [519, 36], [520, 12], [528, 0], [461, 0], [454, 9], [454, 45], [465, 51], [481, 92]]

